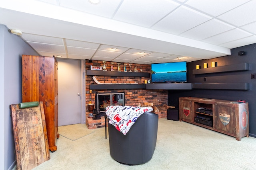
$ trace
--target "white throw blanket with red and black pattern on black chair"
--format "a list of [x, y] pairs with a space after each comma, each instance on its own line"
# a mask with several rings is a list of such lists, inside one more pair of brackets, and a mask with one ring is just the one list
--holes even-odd
[[133, 107], [133, 106], [108, 106], [106, 115], [109, 123], [124, 135], [128, 133], [133, 123], [146, 111], [153, 111], [152, 107]]

